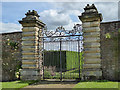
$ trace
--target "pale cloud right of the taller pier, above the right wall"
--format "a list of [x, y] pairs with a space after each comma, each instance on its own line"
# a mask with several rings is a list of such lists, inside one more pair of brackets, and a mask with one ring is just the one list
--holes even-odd
[[95, 5], [98, 11], [102, 14], [104, 22], [118, 20], [117, 2], [97, 2]]

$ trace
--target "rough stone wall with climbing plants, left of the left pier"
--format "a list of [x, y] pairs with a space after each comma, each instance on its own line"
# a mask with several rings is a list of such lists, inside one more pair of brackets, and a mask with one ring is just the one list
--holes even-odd
[[2, 34], [2, 81], [15, 80], [21, 65], [22, 32]]

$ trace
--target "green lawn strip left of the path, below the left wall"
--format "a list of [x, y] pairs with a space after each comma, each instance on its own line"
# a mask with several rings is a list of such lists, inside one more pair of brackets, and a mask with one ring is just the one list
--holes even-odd
[[2, 88], [13, 88], [14, 90], [16, 90], [15, 88], [23, 88], [23, 87], [31, 85], [35, 82], [37, 82], [37, 81], [18, 80], [18, 81], [11, 81], [11, 82], [2, 82]]

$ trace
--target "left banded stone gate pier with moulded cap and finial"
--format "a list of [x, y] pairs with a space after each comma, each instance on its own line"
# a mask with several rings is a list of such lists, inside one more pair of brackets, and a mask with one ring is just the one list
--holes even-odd
[[45, 24], [39, 19], [36, 11], [28, 11], [26, 17], [19, 21], [22, 24], [22, 80], [40, 80], [42, 77], [42, 35]]

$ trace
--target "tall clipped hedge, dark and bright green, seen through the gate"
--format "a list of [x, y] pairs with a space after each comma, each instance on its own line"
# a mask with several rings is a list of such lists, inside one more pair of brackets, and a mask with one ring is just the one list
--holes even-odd
[[[80, 60], [82, 60], [82, 53], [80, 53]], [[62, 61], [62, 71], [79, 68], [78, 52], [61, 51], [61, 61]], [[56, 71], [59, 71], [60, 51], [45, 51], [44, 66], [56, 67]]]

